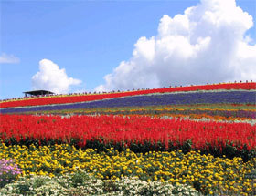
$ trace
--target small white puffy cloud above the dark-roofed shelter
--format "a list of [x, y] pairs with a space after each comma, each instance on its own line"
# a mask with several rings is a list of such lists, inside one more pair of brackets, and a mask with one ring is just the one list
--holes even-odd
[[64, 68], [48, 59], [39, 62], [39, 71], [32, 77], [32, 88], [34, 90], [43, 89], [54, 93], [68, 93], [69, 87], [79, 85], [81, 81], [68, 77]]

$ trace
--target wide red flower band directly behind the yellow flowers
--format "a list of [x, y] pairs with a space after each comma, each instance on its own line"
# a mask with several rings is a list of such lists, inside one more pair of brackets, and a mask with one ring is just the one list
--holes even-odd
[[[133, 150], [204, 150], [221, 154], [256, 148], [256, 125], [141, 116], [22, 116], [0, 115], [5, 143], [66, 142], [80, 147], [128, 146]], [[244, 151], [245, 150], [245, 151]]]

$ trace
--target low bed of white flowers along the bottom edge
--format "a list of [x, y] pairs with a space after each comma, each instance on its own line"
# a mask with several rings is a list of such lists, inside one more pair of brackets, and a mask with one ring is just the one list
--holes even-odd
[[[162, 181], [141, 181], [137, 178], [122, 178], [119, 181], [101, 180], [83, 170], [50, 178], [32, 176], [20, 178], [0, 189], [0, 195], [51, 195], [51, 196], [127, 196], [168, 195], [198, 196], [198, 191], [187, 184], [172, 184]], [[246, 193], [245, 193], [246, 195]]]

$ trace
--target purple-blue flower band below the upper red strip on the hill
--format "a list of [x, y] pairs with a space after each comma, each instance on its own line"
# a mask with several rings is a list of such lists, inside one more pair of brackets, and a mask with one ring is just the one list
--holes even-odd
[[[42, 112], [46, 110], [147, 107], [192, 104], [255, 104], [256, 91], [187, 92], [154, 94], [123, 98], [110, 98], [91, 102], [37, 106], [24, 108], [0, 108], [1, 113]], [[39, 104], [38, 104], [39, 105]]]

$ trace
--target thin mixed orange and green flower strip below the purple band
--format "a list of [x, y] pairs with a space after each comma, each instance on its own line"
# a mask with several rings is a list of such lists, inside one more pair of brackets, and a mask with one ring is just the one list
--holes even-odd
[[245, 104], [194, 104], [147, 107], [116, 107], [116, 108], [78, 108], [62, 110], [31, 111], [25, 114], [37, 115], [147, 115], [152, 117], [171, 117], [183, 119], [246, 121], [256, 123], [256, 108]]

